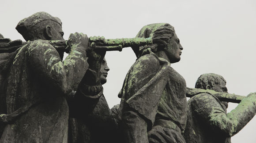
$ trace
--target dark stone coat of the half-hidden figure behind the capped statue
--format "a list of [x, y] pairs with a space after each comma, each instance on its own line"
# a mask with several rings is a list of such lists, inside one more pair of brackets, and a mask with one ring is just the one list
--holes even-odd
[[[93, 102], [93, 99], [87, 100]], [[83, 114], [83, 111], [80, 111], [80, 114]], [[117, 122], [104, 95], [99, 97], [95, 107], [84, 117], [70, 117], [68, 132], [68, 143], [117, 142]]]

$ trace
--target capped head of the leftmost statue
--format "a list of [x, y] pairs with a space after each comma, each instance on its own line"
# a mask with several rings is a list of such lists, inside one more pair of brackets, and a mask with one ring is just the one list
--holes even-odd
[[60, 18], [53, 17], [46, 12], [37, 12], [19, 21], [16, 30], [28, 41], [37, 39], [63, 40]]

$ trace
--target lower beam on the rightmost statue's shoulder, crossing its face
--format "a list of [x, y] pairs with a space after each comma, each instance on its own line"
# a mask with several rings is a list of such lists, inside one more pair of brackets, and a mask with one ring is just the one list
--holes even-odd
[[196, 88], [187, 87], [187, 92], [186, 92], [187, 97], [193, 97], [200, 93], [208, 93], [216, 96], [220, 101], [232, 102], [232, 103], [240, 103], [241, 100], [246, 97], [246, 96], [241, 96], [236, 94], [216, 92], [210, 89], [205, 90], [205, 89], [196, 89]]

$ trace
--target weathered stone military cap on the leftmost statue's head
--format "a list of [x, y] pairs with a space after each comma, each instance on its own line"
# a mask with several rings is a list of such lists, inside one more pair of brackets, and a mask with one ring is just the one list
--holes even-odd
[[45, 20], [52, 20], [60, 25], [62, 25], [60, 18], [53, 17], [52, 15], [48, 14], [47, 12], [37, 12], [23, 20], [19, 21], [18, 25], [16, 26], [16, 30], [21, 34], [25, 34], [28, 30], [30, 30], [34, 25], [38, 24], [41, 21]]

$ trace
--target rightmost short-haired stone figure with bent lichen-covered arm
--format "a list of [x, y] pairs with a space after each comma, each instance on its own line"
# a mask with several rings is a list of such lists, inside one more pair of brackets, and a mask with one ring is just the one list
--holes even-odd
[[[196, 87], [227, 92], [226, 80], [217, 74], [203, 74]], [[208, 93], [188, 100], [188, 120], [184, 132], [186, 143], [231, 143], [230, 137], [239, 132], [256, 114], [256, 93], [250, 93], [230, 113], [227, 102]]]

